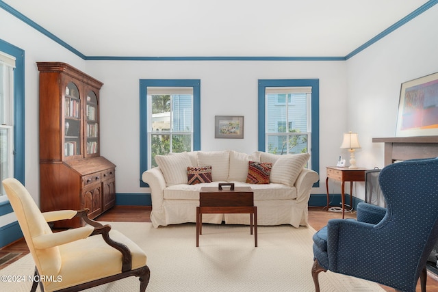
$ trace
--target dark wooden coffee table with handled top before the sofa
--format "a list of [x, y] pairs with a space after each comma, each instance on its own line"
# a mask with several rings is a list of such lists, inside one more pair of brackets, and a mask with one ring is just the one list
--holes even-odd
[[254, 206], [254, 192], [250, 187], [234, 187], [234, 184], [219, 184], [219, 187], [202, 187], [199, 192], [199, 207], [196, 207], [196, 247], [202, 234], [203, 214], [248, 213], [250, 234], [257, 247], [257, 207]]

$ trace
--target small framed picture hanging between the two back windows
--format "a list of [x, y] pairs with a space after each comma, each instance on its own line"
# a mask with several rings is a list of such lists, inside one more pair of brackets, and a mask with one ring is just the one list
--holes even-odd
[[215, 138], [243, 139], [243, 116], [215, 116]]

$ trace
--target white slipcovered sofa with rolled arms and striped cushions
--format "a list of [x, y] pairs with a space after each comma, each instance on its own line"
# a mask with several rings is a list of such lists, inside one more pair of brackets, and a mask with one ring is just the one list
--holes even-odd
[[[201, 187], [218, 187], [218, 183], [249, 186], [254, 191], [257, 224], [307, 225], [307, 203], [313, 183], [319, 175], [304, 168], [309, 154], [252, 155], [233, 150], [170, 153], [155, 157], [159, 165], [142, 174], [151, 188], [151, 221], [155, 228], [169, 224], [196, 222]], [[272, 163], [268, 184], [246, 183], [248, 162]], [[188, 167], [211, 166], [211, 183], [188, 184]], [[205, 214], [203, 222], [212, 224], [249, 224], [247, 214]]]

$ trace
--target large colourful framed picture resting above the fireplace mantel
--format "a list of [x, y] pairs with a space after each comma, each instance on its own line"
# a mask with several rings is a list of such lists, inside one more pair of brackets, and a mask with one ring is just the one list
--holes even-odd
[[438, 135], [438, 72], [402, 83], [396, 137]]

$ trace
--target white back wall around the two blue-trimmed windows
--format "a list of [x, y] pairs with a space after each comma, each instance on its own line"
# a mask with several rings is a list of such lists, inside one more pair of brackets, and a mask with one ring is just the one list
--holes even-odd
[[[101, 155], [116, 165], [118, 193], [140, 185], [140, 79], [201, 79], [201, 149], [257, 150], [257, 80], [320, 79], [320, 163], [333, 165], [346, 124], [345, 62], [88, 61], [101, 89]], [[214, 116], [244, 116], [244, 139], [215, 139]], [[333, 139], [333, 136], [337, 139]], [[324, 170], [325, 171], [325, 170]], [[324, 193], [324, 188], [314, 189]]]

